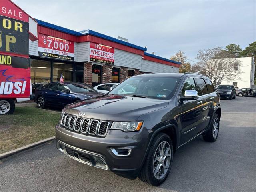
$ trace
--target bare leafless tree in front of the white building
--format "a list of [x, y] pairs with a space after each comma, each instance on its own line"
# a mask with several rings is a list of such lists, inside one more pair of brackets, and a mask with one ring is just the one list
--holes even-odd
[[230, 57], [222, 48], [211, 48], [198, 51], [198, 63], [193, 66], [195, 72], [208, 76], [214, 85], [222, 80], [234, 80], [241, 73], [240, 61]]

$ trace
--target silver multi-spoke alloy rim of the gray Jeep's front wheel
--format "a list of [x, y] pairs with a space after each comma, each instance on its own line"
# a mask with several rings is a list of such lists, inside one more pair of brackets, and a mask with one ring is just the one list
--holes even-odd
[[153, 172], [156, 179], [162, 179], [168, 172], [171, 162], [171, 148], [166, 141], [156, 148], [153, 160]]

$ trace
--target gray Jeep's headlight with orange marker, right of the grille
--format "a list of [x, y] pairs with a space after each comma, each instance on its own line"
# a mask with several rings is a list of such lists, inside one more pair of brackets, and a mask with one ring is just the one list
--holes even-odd
[[138, 131], [142, 127], [143, 122], [113, 122], [111, 129], [118, 129], [122, 131]]

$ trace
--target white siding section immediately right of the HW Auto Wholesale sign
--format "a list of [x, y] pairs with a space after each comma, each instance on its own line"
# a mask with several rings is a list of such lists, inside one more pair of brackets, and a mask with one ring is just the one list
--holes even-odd
[[115, 65], [134, 69], [141, 69], [142, 56], [115, 49]]

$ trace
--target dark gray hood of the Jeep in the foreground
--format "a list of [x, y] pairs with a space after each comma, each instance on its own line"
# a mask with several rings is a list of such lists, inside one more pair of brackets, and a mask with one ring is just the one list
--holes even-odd
[[66, 112], [109, 121], [135, 121], [139, 116], [168, 106], [164, 100], [131, 96], [104, 95], [66, 106]]

